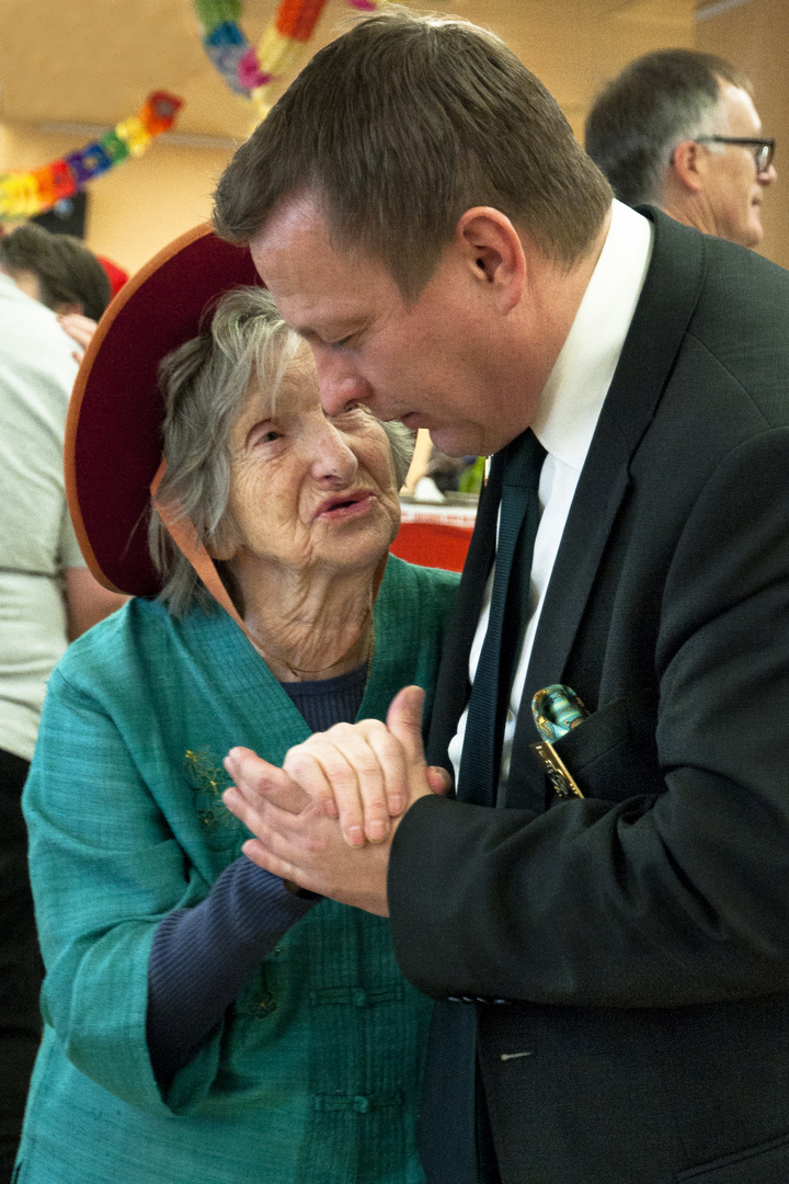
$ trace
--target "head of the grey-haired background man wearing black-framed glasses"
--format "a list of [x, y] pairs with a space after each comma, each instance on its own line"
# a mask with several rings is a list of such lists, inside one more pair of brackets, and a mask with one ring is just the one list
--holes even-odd
[[621, 201], [752, 247], [776, 178], [775, 141], [761, 133], [741, 71], [711, 53], [658, 50], [597, 96], [586, 147]]

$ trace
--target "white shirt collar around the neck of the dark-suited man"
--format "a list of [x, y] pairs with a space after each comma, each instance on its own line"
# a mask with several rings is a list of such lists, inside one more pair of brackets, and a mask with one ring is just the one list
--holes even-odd
[[642, 214], [614, 201], [603, 249], [531, 425], [550, 455], [578, 471], [641, 295], [652, 237]]

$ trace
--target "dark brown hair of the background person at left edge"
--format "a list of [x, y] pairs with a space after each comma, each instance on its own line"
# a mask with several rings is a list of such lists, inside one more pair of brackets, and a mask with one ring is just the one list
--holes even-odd
[[73, 234], [50, 234], [34, 223], [0, 238], [0, 265], [12, 276], [32, 271], [40, 284], [41, 304], [58, 311], [79, 304], [98, 321], [112, 295], [106, 271], [93, 252]]

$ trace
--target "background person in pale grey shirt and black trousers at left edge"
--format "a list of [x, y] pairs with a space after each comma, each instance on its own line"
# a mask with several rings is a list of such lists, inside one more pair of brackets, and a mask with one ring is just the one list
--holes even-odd
[[123, 598], [90, 574], [66, 509], [63, 438], [77, 374], [57, 311], [95, 326], [109, 281], [77, 239], [0, 239], [0, 1180], [11, 1178], [41, 1035], [43, 967], [20, 798], [46, 680]]

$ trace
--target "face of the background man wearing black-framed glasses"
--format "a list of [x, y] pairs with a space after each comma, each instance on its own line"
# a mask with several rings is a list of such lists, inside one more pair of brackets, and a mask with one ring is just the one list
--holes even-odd
[[[722, 82], [720, 117], [714, 131], [722, 136], [758, 137], [762, 121], [750, 95]], [[761, 207], [764, 191], [776, 178], [772, 165], [756, 172], [754, 149], [748, 144], [705, 144], [707, 170], [701, 193], [712, 233], [741, 246], [758, 246], [764, 238]]]

